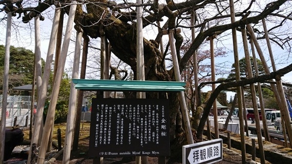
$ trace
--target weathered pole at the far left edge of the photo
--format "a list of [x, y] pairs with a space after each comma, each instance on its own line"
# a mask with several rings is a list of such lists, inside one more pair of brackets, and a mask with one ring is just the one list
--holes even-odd
[[5, 146], [5, 127], [6, 127], [6, 110], [7, 110], [7, 93], [8, 93], [8, 73], [9, 73], [9, 56], [10, 56], [10, 38], [11, 38], [12, 12], [7, 13], [6, 40], [5, 40], [5, 58], [3, 73], [3, 91], [2, 91], [2, 111], [1, 111], [1, 135], [0, 135], [0, 164], [4, 164], [4, 146]]

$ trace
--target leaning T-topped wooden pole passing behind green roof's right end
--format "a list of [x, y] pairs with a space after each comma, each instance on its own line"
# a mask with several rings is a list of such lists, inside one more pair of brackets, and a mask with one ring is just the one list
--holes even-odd
[[[176, 81], [181, 81], [181, 73], [180, 73], [179, 62], [178, 62], [176, 47], [175, 47], [175, 39], [174, 39], [174, 34], [173, 34], [173, 32], [178, 32], [180, 31], [180, 29], [164, 30], [163, 33], [167, 33], [168, 31], [169, 32], [171, 31], [168, 34], [168, 37], [169, 37], [169, 45], [170, 45], [171, 56], [172, 56], [172, 61], [173, 61], [173, 68], [174, 68], [173, 70], [174, 70], [175, 79]], [[179, 92], [179, 98], [180, 98], [180, 105], [181, 105], [182, 114], [183, 114], [183, 124], [185, 127], [187, 142], [188, 144], [194, 144], [193, 134], [191, 130], [191, 125], [189, 121], [189, 116], [188, 116], [187, 107], [185, 104], [183, 91]]]

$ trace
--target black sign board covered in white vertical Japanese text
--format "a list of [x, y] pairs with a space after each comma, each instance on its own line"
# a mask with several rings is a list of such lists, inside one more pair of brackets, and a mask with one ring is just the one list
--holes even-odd
[[168, 100], [92, 99], [89, 155], [169, 155]]

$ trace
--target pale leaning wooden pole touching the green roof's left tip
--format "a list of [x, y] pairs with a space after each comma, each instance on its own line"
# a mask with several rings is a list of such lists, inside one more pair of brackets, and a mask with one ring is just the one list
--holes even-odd
[[[76, 43], [75, 43], [75, 51], [74, 51], [72, 79], [78, 78], [80, 50], [81, 50], [81, 41], [82, 41], [82, 33], [83, 33], [83, 30], [80, 28], [80, 26], [75, 25], [75, 29], [77, 32], [76, 32]], [[74, 130], [74, 118], [76, 114], [76, 98], [77, 98], [77, 90], [75, 89], [74, 86], [75, 86], [74, 83], [71, 83], [62, 164], [69, 164], [70, 162], [70, 152], [71, 152], [71, 146], [72, 146], [72, 136], [73, 136], [73, 130]]]

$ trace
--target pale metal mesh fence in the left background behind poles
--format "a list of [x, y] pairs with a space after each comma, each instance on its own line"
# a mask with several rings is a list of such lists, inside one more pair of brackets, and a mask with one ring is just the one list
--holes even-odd
[[[2, 100], [2, 95], [0, 95]], [[7, 96], [6, 126], [25, 126], [30, 122], [31, 96]], [[0, 101], [0, 113], [2, 101]], [[2, 116], [0, 116], [2, 117]]]

